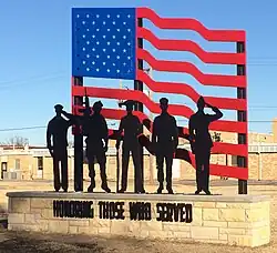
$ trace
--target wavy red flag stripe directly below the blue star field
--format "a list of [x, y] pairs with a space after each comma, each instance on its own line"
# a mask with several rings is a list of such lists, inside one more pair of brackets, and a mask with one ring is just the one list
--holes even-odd
[[[134, 90], [122, 90], [122, 89], [107, 89], [107, 88], [94, 88], [94, 87], [73, 87], [72, 95], [84, 97], [86, 88], [86, 94], [94, 98], [105, 99], [122, 99], [122, 100], [135, 100], [143, 103], [153, 113], [160, 113], [161, 109], [157, 103], [154, 103], [150, 98], [141, 91]], [[194, 111], [185, 105], [171, 104], [168, 107], [168, 113], [172, 115], [179, 115], [189, 119]], [[216, 121], [211, 124], [212, 130], [246, 133], [246, 122], [237, 121]]]

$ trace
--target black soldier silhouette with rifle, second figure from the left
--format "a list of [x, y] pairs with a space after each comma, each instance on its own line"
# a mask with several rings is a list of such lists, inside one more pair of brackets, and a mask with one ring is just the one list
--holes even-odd
[[[109, 142], [109, 130], [104, 117], [101, 114], [102, 102], [98, 101], [93, 104], [93, 114], [86, 113], [83, 123], [83, 133], [88, 138], [86, 143], [86, 158], [89, 161], [89, 171], [91, 178], [91, 184], [88, 188], [88, 192], [93, 192], [95, 188], [95, 170], [94, 160], [96, 159], [100, 165], [100, 175], [102, 180], [101, 188], [110, 193], [111, 189], [107, 186], [106, 182], [106, 151]], [[89, 110], [89, 108], [86, 108]], [[104, 143], [103, 143], [104, 141]]]

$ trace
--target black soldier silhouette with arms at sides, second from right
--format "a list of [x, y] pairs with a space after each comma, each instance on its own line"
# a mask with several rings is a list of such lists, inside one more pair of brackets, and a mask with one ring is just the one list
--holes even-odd
[[178, 130], [176, 120], [167, 112], [168, 100], [160, 100], [161, 115], [156, 117], [153, 123], [152, 144], [156, 154], [157, 180], [160, 186], [157, 193], [164, 189], [164, 160], [166, 164], [166, 190], [173, 194], [172, 190], [172, 164], [174, 153], [178, 145]]

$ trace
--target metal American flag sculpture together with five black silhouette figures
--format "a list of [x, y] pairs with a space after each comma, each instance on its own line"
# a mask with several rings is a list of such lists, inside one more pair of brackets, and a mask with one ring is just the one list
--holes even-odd
[[[158, 39], [143, 26], [143, 19], [151, 20], [162, 29], [186, 30], [189, 28], [208, 41], [235, 42], [237, 52], [206, 52], [195, 42], [188, 40]], [[152, 50], [143, 48], [144, 40], [150, 41], [158, 50], [189, 51], [205, 63], [236, 64], [237, 74], [203, 73], [191, 62], [155, 59], [152, 55]], [[164, 178], [166, 178], [167, 192], [173, 193], [173, 159], [182, 159], [196, 170], [196, 194], [202, 191], [211, 194], [208, 188], [209, 174], [238, 179], [238, 193], [247, 194], [247, 82], [244, 31], [208, 30], [196, 20], [164, 19], [148, 8], [74, 8], [72, 10], [72, 114], [75, 118], [65, 121], [58, 117], [60, 120], [52, 120], [48, 128], [48, 148], [53, 156], [54, 188], [57, 191], [60, 189], [59, 185], [62, 185], [64, 191], [68, 189], [66, 163], [63, 162], [62, 164], [62, 184], [59, 183], [57, 169], [58, 161], [65, 161], [66, 140], [64, 136], [61, 140], [62, 143], [58, 143], [57, 140], [58, 136], [64, 135], [68, 128], [73, 124], [74, 190], [76, 192], [83, 191], [83, 138], [85, 136], [85, 153], [89, 159], [91, 176], [89, 192], [92, 192], [95, 186], [94, 158], [101, 166], [102, 189], [106, 192], [111, 191], [106, 183], [105, 152], [107, 140], [114, 139], [117, 140], [116, 148], [123, 140], [121, 193], [127, 190], [130, 153], [132, 153], [135, 170], [134, 192], [145, 193], [143, 152], [146, 149], [156, 155], [157, 193], [163, 191]], [[171, 79], [171, 72], [188, 73], [203, 85], [235, 88], [237, 89], [237, 98], [202, 98], [189, 84], [156, 81], [155, 78], [150, 77], [144, 71], [144, 62], [147, 62], [154, 71], [167, 72], [167, 80]], [[123, 90], [84, 85], [84, 78], [101, 78], [106, 79], [106, 82], [110, 79], [133, 80], [134, 89]], [[186, 95], [197, 103], [198, 112], [195, 113], [186, 104], [168, 104], [168, 99], [164, 98], [160, 101], [161, 113], [157, 103], [143, 92], [143, 84], [156, 93]], [[89, 98], [123, 100], [127, 112], [125, 114], [123, 110], [117, 108], [103, 108], [101, 110], [101, 102], [95, 103], [93, 109], [89, 109], [83, 101], [84, 98], [85, 101]], [[144, 107], [153, 113], [161, 113], [161, 115], [152, 123], [143, 111]], [[206, 115], [203, 112], [204, 107], [209, 107], [215, 115]], [[86, 108], [86, 112], [84, 108]], [[237, 120], [219, 120], [223, 117], [222, 109], [237, 111]], [[88, 115], [88, 110], [95, 110], [96, 114]], [[66, 114], [64, 115], [66, 117]], [[189, 119], [188, 128], [177, 125], [174, 117]], [[95, 119], [92, 120], [92, 118]], [[121, 120], [120, 129], [107, 129], [104, 119]], [[59, 126], [58, 123], [54, 123], [55, 121], [62, 122], [63, 125]], [[58, 130], [52, 125], [58, 125], [58, 129], [61, 129]], [[152, 133], [152, 142], [144, 135], [143, 128]], [[237, 133], [237, 144], [212, 143], [208, 130]], [[50, 136], [55, 140], [53, 144], [50, 143]], [[178, 145], [178, 139], [181, 138], [189, 141], [191, 150]], [[99, 143], [99, 146], [96, 143]], [[101, 152], [99, 152], [100, 150]], [[237, 165], [209, 164], [211, 154], [214, 153], [235, 155]], [[165, 173], [162, 166], [164, 160], [166, 161]]]

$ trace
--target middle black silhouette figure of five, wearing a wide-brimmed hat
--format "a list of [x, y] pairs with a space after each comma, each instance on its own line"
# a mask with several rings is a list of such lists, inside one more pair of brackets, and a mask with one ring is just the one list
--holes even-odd
[[140, 156], [140, 142], [138, 134], [142, 133], [142, 124], [140, 119], [133, 114], [134, 101], [127, 100], [119, 104], [120, 107], [125, 105], [127, 114], [121, 119], [119, 129], [119, 139], [116, 142], [116, 149], [120, 149], [121, 134], [124, 131], [123, 144], [122, 144], [122, 185], [120, 193], [124, 193], [127, 189], [127, 169], [130, 152], [132, 152], [134, 172], [135, 172], [135, 193], [145, 193], [143, 186], [143, 173]]

